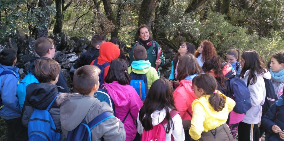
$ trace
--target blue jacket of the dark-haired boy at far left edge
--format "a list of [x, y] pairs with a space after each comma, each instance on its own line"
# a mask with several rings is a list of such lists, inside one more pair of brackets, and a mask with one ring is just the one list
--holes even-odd
[[18, 74], [19, 68], [1, 65], [0, 64], [0, 74], [3, 71], [11, 71], [13, 74], [4, 74], [0, 76], [0, 93], [2, 103], [4, 107], [0, 110], [0, 115], [4, 119], [14, 119], [21, 116], [20, 105], [17, 98], [17, 84], [20, 81]]

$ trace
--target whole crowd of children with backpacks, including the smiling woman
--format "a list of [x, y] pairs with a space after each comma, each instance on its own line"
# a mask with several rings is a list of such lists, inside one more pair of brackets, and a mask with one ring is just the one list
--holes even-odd
[[[259, 123], [266, 140], [284, 139], [284, 51], [274, 53], [267, 67], [254, 50], [240, 54], [231, 49], [225, 62], [210, 41], [202, 41], [197, 51], [186, 42], [179, 47], [167, 80], [160, 79], [155, 69], [164, 65], [164, 55], [157, 55], [159, 44], [151, 39], [149, 28], [141, 26], [138, 35], [129, 65], [118, 39], [107, 42], [105, 36], [94, 35], [92, 48], [70, 70], [77, 93], [69, 93], [61, 67], [52, 59], [53, 41], [38, 38], [35, 51], [40, 58], [32, 61], [29, 72], [39, 83], [26, 87], [22, 109], [17, 98], [16, 54], [4, 49], [0, 53], [0, 115], [7, 123], [8, 140], [44, 136], [85, 140], [86, 134], [78, 135], [83, 127], [90, 140], [233, 141], [238, 132], [239, 140], [258, 141], [263, 134]], [[268, 88], [275, 99], [268, 97]], [[107, 100], [101, 99], [102, 93]], [[267, 100], [273, 104], [263, 111]], [[34, 131], [32, 122], [40, 120], [37, 110], [48, 111], [55, 125], [51, 129], [60, 138]]]

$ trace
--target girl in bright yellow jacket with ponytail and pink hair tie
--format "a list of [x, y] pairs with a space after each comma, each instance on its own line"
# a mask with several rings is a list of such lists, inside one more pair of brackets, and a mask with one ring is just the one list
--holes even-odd
[[217, 81], [209, 74], [195, 76], [192, 84], [197, 99], [192, 102], [191, 138], [199, 141], [234, 141], [226, 121], [236, 105], [235, 101], [216, 91]]

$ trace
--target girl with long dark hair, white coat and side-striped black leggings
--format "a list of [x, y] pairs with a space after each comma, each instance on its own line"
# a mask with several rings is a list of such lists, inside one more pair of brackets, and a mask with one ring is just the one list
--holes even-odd
[[242, 71], [240, 78], [250, 90], [252, 107], [246, 111], [244, 120], [239, 123], [239, 140], [259, 140], [258, 123], [261, 120], [262, 107], [265, 101], [265, 83], [263, 78], [270, 79], [271, 74], [261, 61], [260, 55], [254, 50], [242, 53]]

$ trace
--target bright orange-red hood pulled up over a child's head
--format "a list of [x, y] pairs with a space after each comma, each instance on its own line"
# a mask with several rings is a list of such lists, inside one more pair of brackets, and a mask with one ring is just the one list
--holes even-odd
[[98, 64], [102, 65], [106, 62], [111, 62], [114, 59], [117, 59], [120, 55], [120, 49], [111, 42], [104, 42], [100, 46]]

